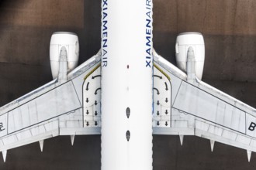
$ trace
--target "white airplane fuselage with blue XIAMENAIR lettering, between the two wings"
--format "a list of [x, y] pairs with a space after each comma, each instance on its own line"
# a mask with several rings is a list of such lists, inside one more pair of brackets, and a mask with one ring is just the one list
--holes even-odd
[[152, 169], [152, 7], [102, 0], [102, 170]]

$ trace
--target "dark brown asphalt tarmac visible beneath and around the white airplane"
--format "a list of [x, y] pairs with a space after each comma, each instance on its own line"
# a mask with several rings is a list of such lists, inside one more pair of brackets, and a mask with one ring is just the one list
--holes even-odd
[[[175, 64], [179, 32], [202, 32], [206, 42], [203, 80], [256, 107], [256, 1], [154, 0], [154, 48]], [[0, 1], [0, 105], [51, 80], [49, 43], [55, 31], [78, 34], [85, 62], [100, 48], [100, 0]], [[100, 136], [67, 136], [12, 149], [0, 169], [100, 169]], [[185, 136], [154, 135], [154, 169], [254, 169], [246, 151]]]

